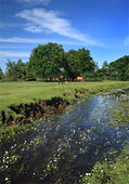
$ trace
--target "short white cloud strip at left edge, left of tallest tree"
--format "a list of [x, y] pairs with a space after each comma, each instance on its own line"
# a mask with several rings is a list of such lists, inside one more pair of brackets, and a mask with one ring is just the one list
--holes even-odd
[[8, 52], [0, 51], [0, 57], [29, 57], [30, 53], [27, 52]]

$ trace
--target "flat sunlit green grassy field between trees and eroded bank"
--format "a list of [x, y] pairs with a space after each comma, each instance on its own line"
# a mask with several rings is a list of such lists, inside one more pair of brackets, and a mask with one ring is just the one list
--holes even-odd
[[[72, 82], [59, 84], [56, 82], [0, 82], [0, 111], [9, 110], [12, 104], [29, 103], [35, 98], [47, 100], [53, 96], [63, 96], [63, 93], [73, 93], [75, 89], [85, 88], [87, 95], [105, 92], [116, 88], [129, 87], [129, 81], [104, 82]], [[69, 96], [73, 98], [74, 96]]]

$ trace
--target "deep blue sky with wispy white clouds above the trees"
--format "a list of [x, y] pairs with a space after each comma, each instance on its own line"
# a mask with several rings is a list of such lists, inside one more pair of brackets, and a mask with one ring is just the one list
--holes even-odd
[[38, 44], [86, 48], [101, 67], [129, 55], [129, 0], [0, 0], [0, 67]]

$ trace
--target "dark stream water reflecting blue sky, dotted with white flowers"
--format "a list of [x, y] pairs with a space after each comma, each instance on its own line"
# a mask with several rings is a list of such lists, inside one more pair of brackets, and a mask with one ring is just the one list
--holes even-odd
[[108, 109], [128, 100], [129, 91], [119, 90], [38, 121], [33, 130], [3, 145], [1, 184], [76, 184], [96, 161], [114, 160], [128, 144], [129, 123], [111, 126]]

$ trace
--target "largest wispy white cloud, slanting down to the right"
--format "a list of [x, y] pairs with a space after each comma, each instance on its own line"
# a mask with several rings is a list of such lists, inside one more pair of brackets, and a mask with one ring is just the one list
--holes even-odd
[[24, 29], [27, 31], [48, 31], [79, 40], [88, 45], [103, 45], [103, 43], [100, 41], [90, 39], [85, 34], [81, 34], [73, 28], [69, 21], [62, 18], [59, 12], [47, 11], [44, 9], [24, 10], [17, 13], [16, 17], [21, 17], [27, 21], [27, 25], [24, 27]]

